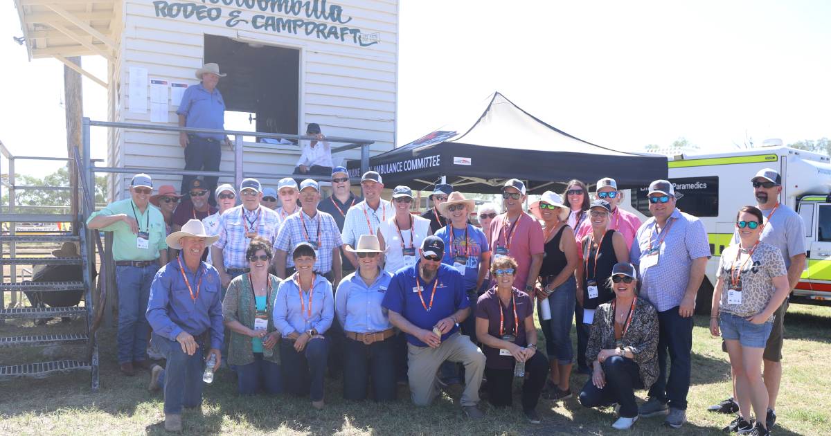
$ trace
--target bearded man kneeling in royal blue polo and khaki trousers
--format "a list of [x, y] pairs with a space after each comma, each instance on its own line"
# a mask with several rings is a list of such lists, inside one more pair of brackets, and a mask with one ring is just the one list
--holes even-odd
[[458, 324], [470, 315], [470, 304], [461, 274], [441, 263], [444, 252], [441, 238], [425, 238], [419, 262], [396, 272], [381, 306], [389, 311], [392, 325], [406, 334], [413, 403], [430, 404], [438, 394], [435, 373], [442, 362], [461, 362], [465, 365], [462, 409], [479, 419], [484, 417], [477, 407], [484, 354], [459, 333]]

